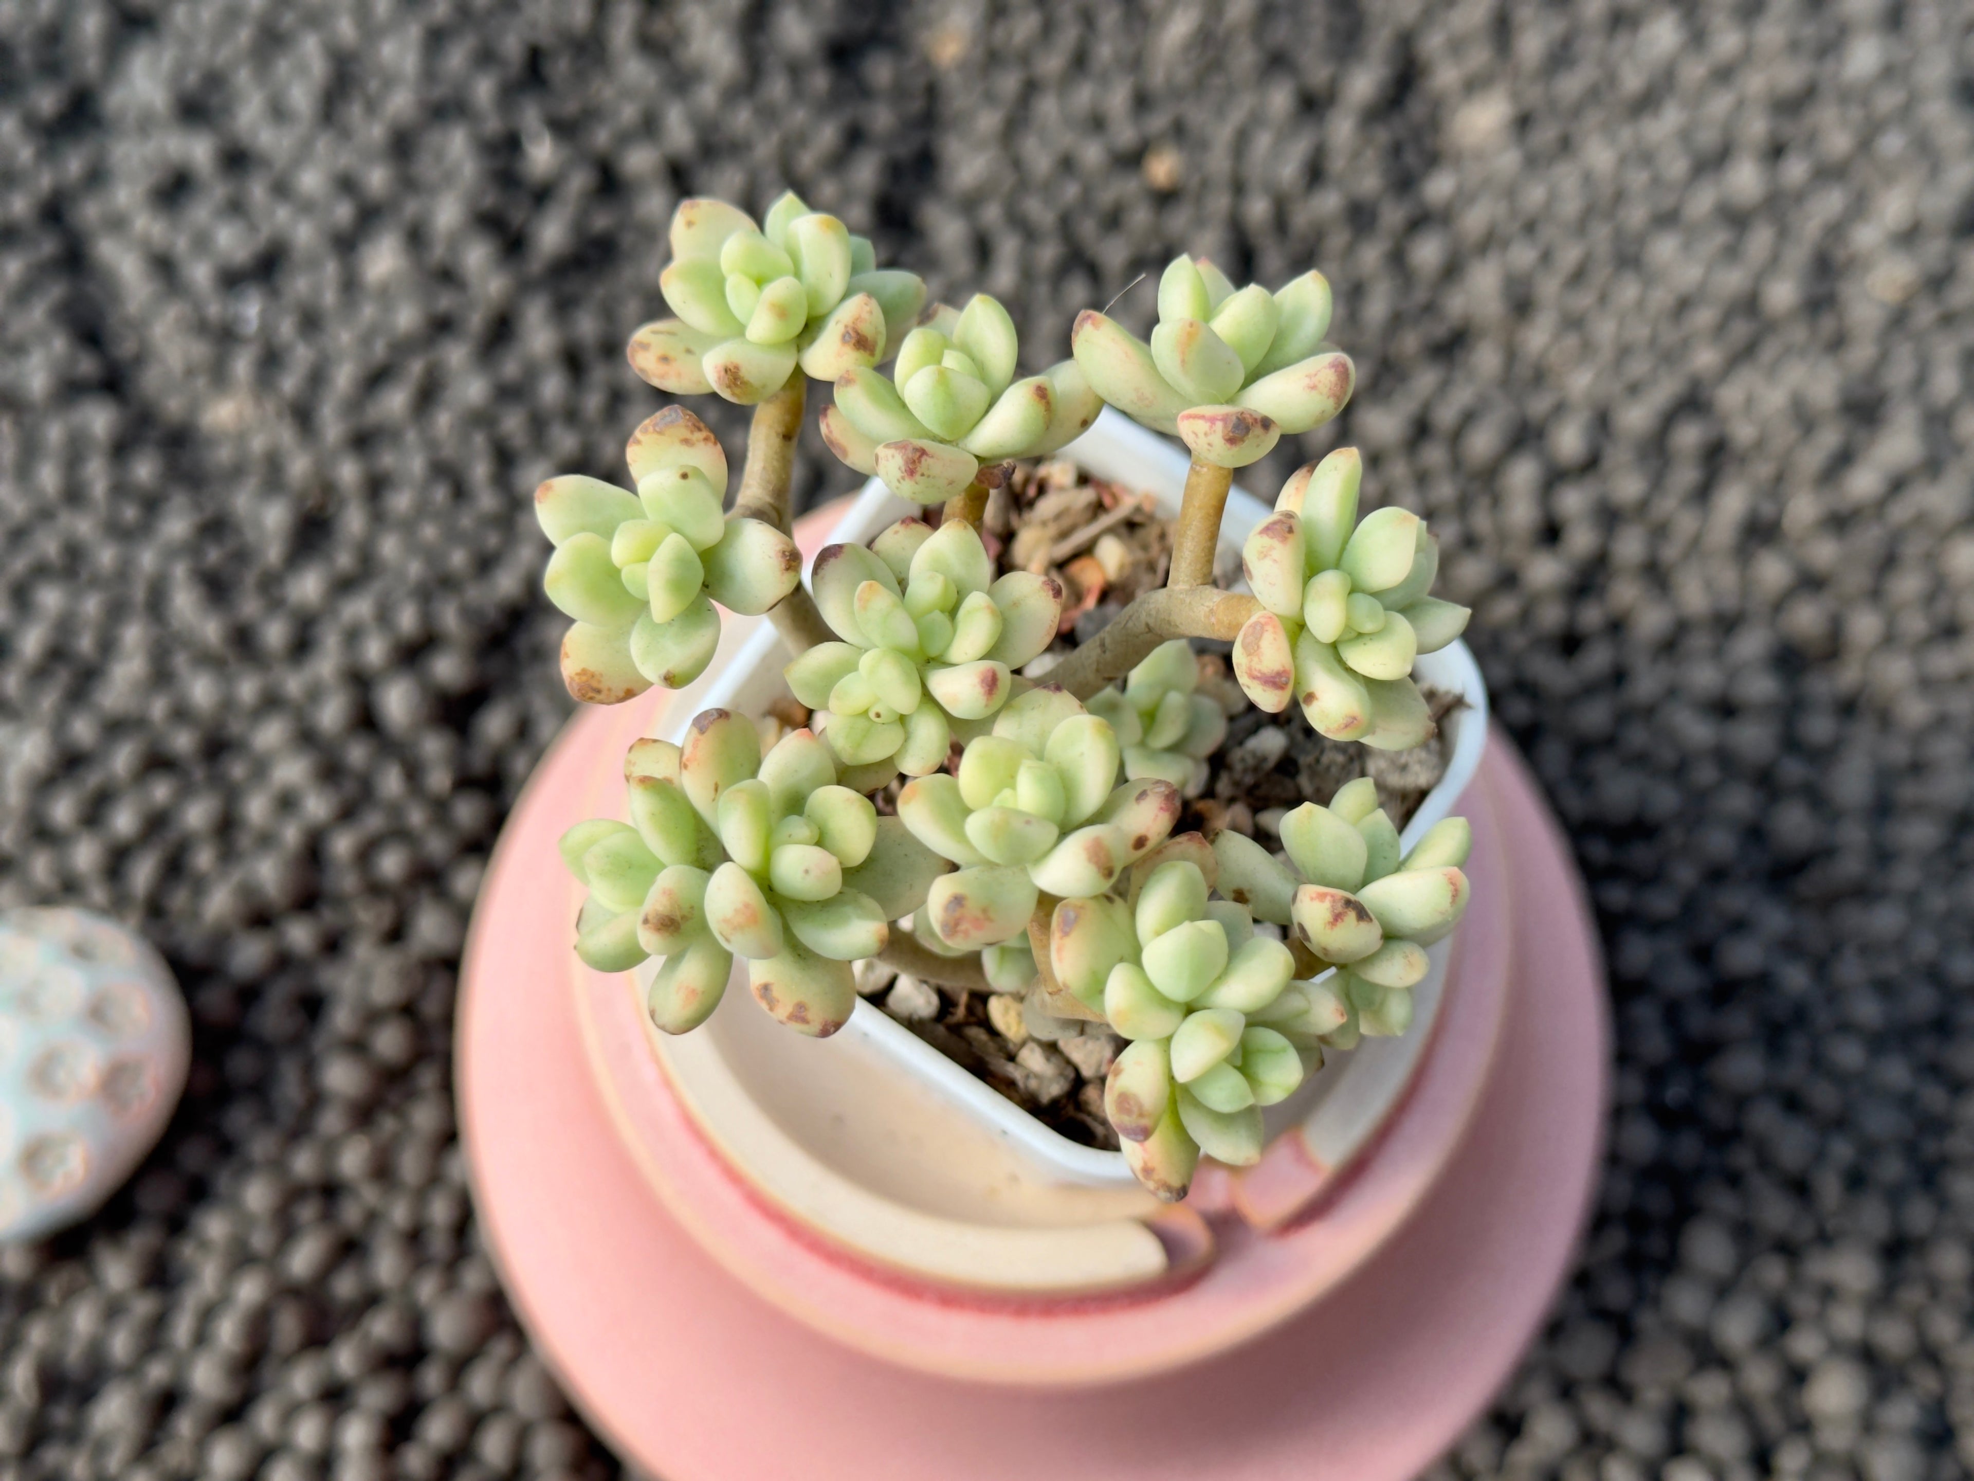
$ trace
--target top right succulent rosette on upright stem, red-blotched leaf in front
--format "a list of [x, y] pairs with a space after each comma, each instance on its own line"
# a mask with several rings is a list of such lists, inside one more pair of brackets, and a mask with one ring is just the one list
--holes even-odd
[[1246, 468], [1283, 432], [1321, 427], [1350, 401], [1356, 367], [1325, 344], [1329, 328], [1330, 284], [1317, 271], [1269, 292], [1236, 288], [1204, 257], [1175, 257], [1151, 344], [1086, 308], [1070, 350], [1117, 411], [1177, 432], [1198, 462]]

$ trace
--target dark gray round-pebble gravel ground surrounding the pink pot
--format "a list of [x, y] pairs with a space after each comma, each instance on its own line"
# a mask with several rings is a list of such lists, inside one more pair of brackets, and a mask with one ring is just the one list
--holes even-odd
[[0, 1256], [0, 1481], [610, 1469], [452, 966], [567, 713], [527, 490], [655, 405], [675, 199], [784, 182], [1036, 361], [1180, 245], [1336, 284], [1360, 401], [1250, 482], [1348, 438], [1433, 517], [1619, 999], [1581, 1272], [1439, 1475], [1962, 1475], [1970, 132], [1944, 0], [0, 0], [0, 902], [140, 922], [199, 1035]]

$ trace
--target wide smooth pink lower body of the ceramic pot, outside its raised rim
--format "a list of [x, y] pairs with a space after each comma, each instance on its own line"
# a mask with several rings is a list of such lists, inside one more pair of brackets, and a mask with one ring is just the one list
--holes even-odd
[[1607, 1062], [1581, 889], [1504, 737], [1482, 776], [1514, 859], [1514, 989], [1445, 1177], [1287, 1325], [1171, 1376], [1050, 1394], [916, 1374], [782, 1315], [699, 1248], [624, 1149], [580, 1041], [561, 887], [557, 908], [541, 902], [555, 837], [594, 782], [584, 731], [626, 723], [642, 729], [622, 711], [578, 717], [509, 819], [468, 944], [456, 1049], [482, 1226], [521, 1319], [626, 1459], [665, 1481], [1372, 1481], [1415, 1473], [1486, 1404], [1567, 1266]]

